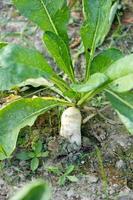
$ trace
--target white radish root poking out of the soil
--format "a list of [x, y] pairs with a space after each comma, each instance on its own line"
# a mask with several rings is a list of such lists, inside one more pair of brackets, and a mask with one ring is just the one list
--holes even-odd
[[67, 108], [61, 116], [60, 135], [78, 148], [81, 147], [81, 119], [80, 110], [75, 107]]

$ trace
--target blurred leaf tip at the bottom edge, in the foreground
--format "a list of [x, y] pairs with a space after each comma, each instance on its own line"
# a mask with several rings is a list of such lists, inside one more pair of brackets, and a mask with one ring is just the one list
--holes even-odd
[[36, 180], [26, 184], [10, 200], [49, 200], [50, 196], [49, 186], [43, 180]]

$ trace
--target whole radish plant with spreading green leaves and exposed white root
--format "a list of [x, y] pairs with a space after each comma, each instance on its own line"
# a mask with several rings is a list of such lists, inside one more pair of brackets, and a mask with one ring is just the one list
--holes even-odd
[[114, 48], [96, 54], [97, 47], [110, 30], [118, 2], [82, 1], [84, 21], [80, 35], [86, 59], [83, 81], [77, 80], [71, 59], [67, 1], [13, 0], [13, 3], [20, 13], [44, 31], [43, 43], [61, 72], [67, 75], [67, 80], [64, 81], [36, 49], [1, 43], [1, 91], [39, 81], [40, 85], [48, 85], [60, 98], [21, 98], [0, 110], [0, 159], [12, 154], [21, 128], [33, 125], [39, 115], [57, 106], [66, 108], [61, 117], [60, 135], [80, 149], [80, 109], [102, 91], [133, 133], [133, 54], [124, 56]]

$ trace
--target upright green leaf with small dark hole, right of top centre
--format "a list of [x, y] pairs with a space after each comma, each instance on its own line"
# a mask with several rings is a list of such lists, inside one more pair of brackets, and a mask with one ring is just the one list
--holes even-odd
[[110, 29], [112, 13], [112, 0], [83, 0], [84, 24], [81, 28], [81, 37], [87, 61], [86, 80], [90, 75], [90, 63], [95, 49], [103, 42]]

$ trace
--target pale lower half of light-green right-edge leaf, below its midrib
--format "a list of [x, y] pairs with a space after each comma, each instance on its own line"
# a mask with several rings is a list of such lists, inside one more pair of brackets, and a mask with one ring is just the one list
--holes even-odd
[[133, 73], [116, 79], [109, 88], [115, 92], [127, 92], [133, 89]]

